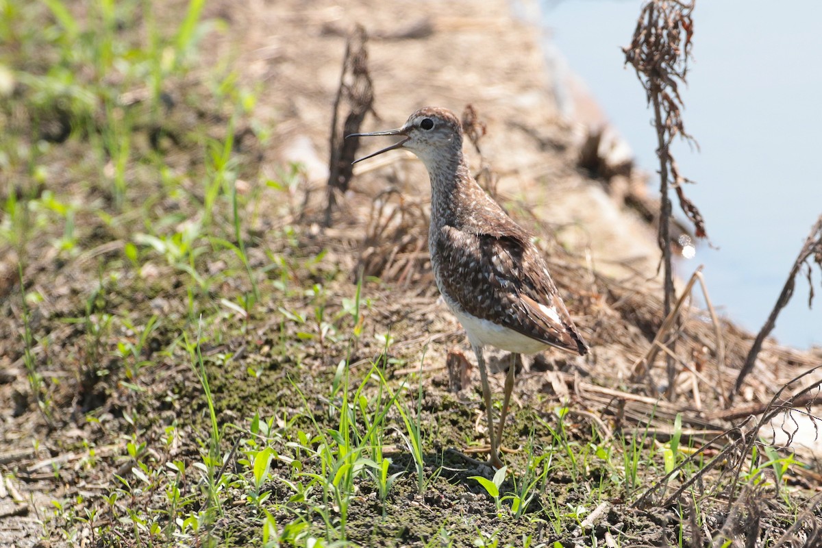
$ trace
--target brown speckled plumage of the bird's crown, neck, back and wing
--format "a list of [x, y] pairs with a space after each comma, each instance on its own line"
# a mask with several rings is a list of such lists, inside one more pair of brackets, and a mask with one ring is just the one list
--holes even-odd
[[[452, 140], [426, 163], [432, 186], [428, 249], [436, 285], [449, 305], [547, 345], [584, 354], [588, 348], [556, 291], [531, 235], [471, 176], [462, 154], [462, 128], [444, 108], [422, 108], [441, 120]], [[552, 320], [539, 306], [556, 310]]]

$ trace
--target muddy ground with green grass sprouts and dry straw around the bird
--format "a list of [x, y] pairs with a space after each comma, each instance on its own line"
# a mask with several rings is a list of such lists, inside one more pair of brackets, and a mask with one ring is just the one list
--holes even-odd
[[[173, 35], [186, 9], [122, 12], [113, 33]], [[3, 47], [2, 546], [820, 546], [819, 463], [766, 449], [768, 428], [746, 422], [819, 354], [770, 341], [729, 411], [750, 334], [722, 320], [719, 363], [715, 326], [690, 311], [673, 401], [658, 392], [663, 356], [630, 379], [663, 320], [654, 228], [624, 191], [644, 175], [580, 168], [580, 128], [556, 108], [527, 15], [505, 2], [210, 2], [196, 52], [155, 94], [116, 63], [95, 81], [102, 65], [73, 65], [57, 40], [25, 47], [36, 33]], [[18, 17], [59, 22], [44, 7]], [[472, 104], [487, 125], [472, 163], [538, 234], [592, 346], [518, 371], [499, 504], [475, 479], [494, 476], [473, 461], [484, 408], [432, 283], [423, 168], [363, 165], [323, 226], [331, 104], [357, 22], [379, 115], [363, 129]], [[21, 77], [60, 64], [75, 87], [46, 99]], [[111, 103], [75, 100], [92, 81], [116, 90]], [[492, 377], [498, 402], [504, 375]], [[397, 475], [387, 493], [369, 472], [382, 459]]]

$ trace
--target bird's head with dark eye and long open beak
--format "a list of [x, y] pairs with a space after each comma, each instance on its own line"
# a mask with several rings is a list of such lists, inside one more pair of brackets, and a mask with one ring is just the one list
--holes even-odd
[[388, 150], [408, 149], [431, 171], [431, 167], [443, 160], [458, 158], [462, 154], [462, 126], [459, 118], [447, 108], [426, 107], [413, 113], [403, 127], [390, 131], [353, 133], [349, 137], [401, 136], [394, 145], [377, 150], [354, 163], [369, 159]]

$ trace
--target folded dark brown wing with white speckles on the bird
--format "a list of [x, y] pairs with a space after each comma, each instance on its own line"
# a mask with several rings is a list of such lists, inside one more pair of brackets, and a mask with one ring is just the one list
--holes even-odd
[[588, 347], [562, 303], [547, 265], [527, 233], [515, 227], [502, 235], [442, 227], [438, 256], [444, 292], [463, 310], [483, 320], [569, 352]]

